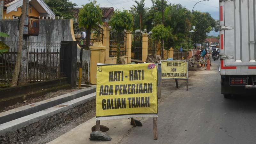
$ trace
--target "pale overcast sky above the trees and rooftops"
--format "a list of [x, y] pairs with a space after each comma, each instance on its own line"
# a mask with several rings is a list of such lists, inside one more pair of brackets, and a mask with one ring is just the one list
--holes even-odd
[[[89, 0], [69, 0], [77, 4], [77, 7], [81, 7], [82, 4], [86, 4]], [[109, 1], [109, 2], [108, 2]], [[140, 1], [140, 0], [138, 0]], [[193, 6], [200, 0], [167, 0], [168, 3], [181, 4], [188, 10], [192, 11]], [[134, 3], [134, 0], [97, 0], [100, 7], [114, 7], [114, 9], [130, 9]], [[152, 5], [151, 0], [145, 0], [147, 7]], [[203, 1], [196, 4], [194, 10], [201, 12], [209, 12], [214, 19], [219, 19], [219, 0]], [[212, 35], [216, 35], [215, 33]], [[217, 35], [218, 36], [218, 35]]]

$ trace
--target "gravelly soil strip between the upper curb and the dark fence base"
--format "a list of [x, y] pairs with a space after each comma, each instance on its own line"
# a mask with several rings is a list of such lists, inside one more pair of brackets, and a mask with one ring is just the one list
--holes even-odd
[[11, 110], [11, 109], [14, 109], [14, 108], [19, 108], [19, 107], [22, 107], [22, 106], [25, 106], [25, 105], [29, 105], [29, 104], [32, 104], [32, 103], [35, 103], [35, 102], [51, 99], [51, 98], [54, 98], [54, 97], [57, 97], [57, 96], [60, 96], [60, 95], [63, 95], [63, 94], [69, 93], [69, 92], [74, 92], [74, 91], [77, 91], [77, 90], [78, 90], [78, 87], [73, 88], [73, 89], [60, 90], [60, 91], [57, 91], [57, 92], [50, 92], [50, 93], [47, 93], [45, 95], [42, 95], [41, 97], [30, 98], [28, 100], [25, 100], [23, 103], [17, 103], [15, 105], [5, 107], [5, 108], [0, 110], [0, 113], [4, 112], [4, 111]]

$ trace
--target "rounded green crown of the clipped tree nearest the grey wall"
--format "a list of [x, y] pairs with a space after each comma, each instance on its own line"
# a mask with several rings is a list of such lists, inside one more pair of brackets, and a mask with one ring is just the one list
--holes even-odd
[[96, 1], [91, 1], [80, 9], [78, 13], [79, 27], [96, 27], [102, 23], [102, 11]]

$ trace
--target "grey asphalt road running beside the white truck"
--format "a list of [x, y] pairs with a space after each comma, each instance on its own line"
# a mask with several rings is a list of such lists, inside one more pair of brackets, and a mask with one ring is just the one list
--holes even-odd
[[189, 72], [176, 89], [173, 80], [164, 80], [158, 109], [158, 140], [153, 140], [153, 119], [143, 122], [124, 137], [121, 144], [255, 144], [256, 99], [220, 94], [219, 60], [211, 71]]

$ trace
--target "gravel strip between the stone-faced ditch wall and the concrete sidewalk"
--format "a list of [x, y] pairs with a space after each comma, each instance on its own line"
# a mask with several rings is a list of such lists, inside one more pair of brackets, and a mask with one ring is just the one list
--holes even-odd
[[64, 124], [60, 124], [56, 127], [53, 127], [50, 131], [40, 134], [32, 140], [28, 140], [24, 144], [48, 143], [48, 142], [60, 137], [62, 134], [69, 132], [70, 130], [77, 127], [78, 125], [85, 123], [89, 119], [93, 118], [95, 115], [96, 115], [96, 112], [95, 112], [95, 108], [94, 108], [93, 110], [90, 110], [87, 113], [84, 113], [82, 116], [80, 116], [70, 122], [65, 122]]

